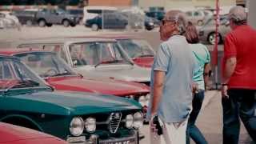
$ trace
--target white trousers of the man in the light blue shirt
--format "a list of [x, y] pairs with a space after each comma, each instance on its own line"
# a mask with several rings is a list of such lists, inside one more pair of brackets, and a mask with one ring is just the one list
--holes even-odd
[[163, 129], [163, 138], [166, 144], [186, 144], [187, 119], [177, 127], [177, 123], [166, 123]]

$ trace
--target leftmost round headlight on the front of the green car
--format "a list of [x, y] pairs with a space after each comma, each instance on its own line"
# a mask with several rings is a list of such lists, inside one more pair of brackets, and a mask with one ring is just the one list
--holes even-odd
[[84, 122], [81, 117], [75, 117], [70, 122], [70, 134], [79, 136], [84, 130]]

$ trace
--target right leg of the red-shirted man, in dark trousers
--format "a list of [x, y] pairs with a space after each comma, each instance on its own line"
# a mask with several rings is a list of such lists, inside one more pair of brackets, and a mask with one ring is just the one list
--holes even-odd
[[256, 90], [240, 90], [240, 118], [256, 142]]

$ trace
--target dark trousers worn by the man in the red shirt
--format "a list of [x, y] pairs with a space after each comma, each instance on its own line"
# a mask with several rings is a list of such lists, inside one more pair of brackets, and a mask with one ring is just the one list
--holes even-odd
[[231, 89], [228, 95], [222, 98], [223, 144], [238, 144], [239, 117], [256, 142], [256, 90]]

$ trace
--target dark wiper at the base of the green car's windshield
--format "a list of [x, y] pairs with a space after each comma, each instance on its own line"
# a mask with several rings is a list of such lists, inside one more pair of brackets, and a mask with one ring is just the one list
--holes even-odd
[[7, 87], [6, 90], [4, 90], [4, 92], [7, 93], [11, 89], [20, 88], [20, 87], [28, 87], [28, 86], [30, 86], [30, 87], [39, 86], [39, 82], [35, 82], [33, 80], [20, 81], [18, 83], [15, 83], [12, 86]]

